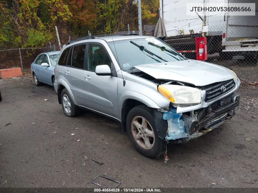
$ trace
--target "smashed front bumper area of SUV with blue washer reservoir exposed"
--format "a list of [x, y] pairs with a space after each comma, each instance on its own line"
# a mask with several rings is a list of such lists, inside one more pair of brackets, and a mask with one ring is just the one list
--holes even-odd
[[162, 115], [168, 127], [165, 139], [173, 143], [183, 143], [198, 138], [230, 120], [238, 105], [239, 95], [231, 94], [208, 107], [186, 113], [177, 113], [177, 109], [172, 108]]

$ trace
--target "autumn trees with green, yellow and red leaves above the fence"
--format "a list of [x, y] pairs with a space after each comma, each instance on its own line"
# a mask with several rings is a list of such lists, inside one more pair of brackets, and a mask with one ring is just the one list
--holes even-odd
[[[156, 24], [159, 0], [141, 0], [142, 25]], [[0, 0], [0, 49], [61, 43], [68, 36], [138, 30], [133, 0]]]

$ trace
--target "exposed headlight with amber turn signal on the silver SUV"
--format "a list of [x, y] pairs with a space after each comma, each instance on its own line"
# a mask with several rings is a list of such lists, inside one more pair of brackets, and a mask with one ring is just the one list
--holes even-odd
[[198, 105], [202, 99], [199, 89], [187, 86], [162, 84], [158, 86], [158, 91], [175, 106]]

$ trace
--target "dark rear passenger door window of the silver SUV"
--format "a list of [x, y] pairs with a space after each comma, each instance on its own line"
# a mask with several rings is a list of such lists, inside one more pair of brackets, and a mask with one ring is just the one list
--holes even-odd
[[73, 47], [72, 67], [84, 69], [84, 54], [86, 45], [78, 45]]

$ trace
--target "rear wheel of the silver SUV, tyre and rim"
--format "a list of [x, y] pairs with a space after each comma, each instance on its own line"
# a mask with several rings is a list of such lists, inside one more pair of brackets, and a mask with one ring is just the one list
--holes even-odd
[[61, 92], [61, 103], [66, 116], [74, 117], [80, 114], [80, 109], [74, 105], [73, 100], [65, 88]]

